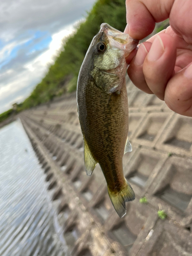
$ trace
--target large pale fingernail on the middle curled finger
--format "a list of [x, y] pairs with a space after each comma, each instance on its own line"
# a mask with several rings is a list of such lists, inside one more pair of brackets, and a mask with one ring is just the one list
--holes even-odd
[[147, 59], [150, 61], [156, 61], [162, 56], [164, 50], [163, 41], [161, 40], [161, 37], [157, 35], [150, 51], [148, 52]]

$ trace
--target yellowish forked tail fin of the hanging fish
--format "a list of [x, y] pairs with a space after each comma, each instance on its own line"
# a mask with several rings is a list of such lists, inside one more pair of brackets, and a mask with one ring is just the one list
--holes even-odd
[[133, 188], [126, 181], [125, 186], [118, 192], [111, 191], [108, 187], [108, 194], [117, 214], [122, 218], [126, 214], [125, 202], [133, 201], [135, 199]]

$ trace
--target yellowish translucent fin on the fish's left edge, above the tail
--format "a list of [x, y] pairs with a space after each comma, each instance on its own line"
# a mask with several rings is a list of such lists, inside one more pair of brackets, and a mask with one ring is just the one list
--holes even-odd
[[87, 144], [87, 141], [84, 140], [84, 166], [86, 168], [86, 173], [88, 176], [92, 175], [96, 164], [97, 164], [97, 161], [94, 160], [91, 154], [91, 151], [89, 149], [89, 146]]

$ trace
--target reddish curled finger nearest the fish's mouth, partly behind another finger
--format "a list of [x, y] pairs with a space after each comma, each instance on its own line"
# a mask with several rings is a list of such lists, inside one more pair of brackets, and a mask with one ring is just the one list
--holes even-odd
[[143, 74], [143, 62], [146, 58], [148, 51], [151, 48], [150, 42], [144, 42], [139, 46], [136, 56], [130, 63], [129, 68], [127, 69], [127, 74], [129, 75], [132, 82], [145, 93], [153, 94], [153, 92], [148, 88]]

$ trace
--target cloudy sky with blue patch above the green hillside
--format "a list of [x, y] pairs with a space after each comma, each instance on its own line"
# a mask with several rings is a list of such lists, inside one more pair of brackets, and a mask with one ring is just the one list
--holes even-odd
[[94, 2], [0, 1], [0, 113], [30, 95]]

